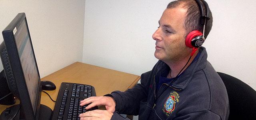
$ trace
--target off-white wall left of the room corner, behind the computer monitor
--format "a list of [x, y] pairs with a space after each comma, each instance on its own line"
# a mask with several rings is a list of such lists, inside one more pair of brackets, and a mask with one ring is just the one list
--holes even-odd
[[84, 10], [84, 0], [1, 0], [0, 30], [19, 12], [26, 13], [38, 69], [44, 77], [82, 61]]

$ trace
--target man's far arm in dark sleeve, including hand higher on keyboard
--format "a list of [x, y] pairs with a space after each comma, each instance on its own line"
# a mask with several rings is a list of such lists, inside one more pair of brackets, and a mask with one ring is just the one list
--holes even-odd
[[94, 106], [104, 105], [106, 110], [112, 113], [114, 111], [120, 111], [122, 114], [137, 115], [140, 101], [146, 99], [148, 94], [148, 87], [145, 86], [148, 86], [146, 81], [148, 80], [149, 74], [150, 72], [142, 74], [142, 84], [136, 84], [132, 89], [128, 89], [125, 92], [115, 91], [105, 96], [86, 98], [80, 102], [80, 106], [90, 104], [86, 107], [86, 109], [90, 109]]

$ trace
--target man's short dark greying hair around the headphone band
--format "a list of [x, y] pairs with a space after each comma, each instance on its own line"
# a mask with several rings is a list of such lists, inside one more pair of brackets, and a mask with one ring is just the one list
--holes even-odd
[[[200, 1], [202, 3], [202, 1]], [[186, 20], [184, 23], [184, 27], [186, 28], [186, 36], [188, 33], [190, 33], [193, 30], [199, 30], [203, 32], [204, 26], [200, 23], [200, 10], [198, 8], [198, 4], [196, 3], [195, 0], [176, 0], [173, 2], [170, 2], [167, 6], [167, 9], [170, 8], [176, 8], [178, 6], [182, 5], [182, 8], [186, 8]], [[205, 7], [204, 8], [204, 13], [205, 13]], [[204, 37], [207, 38], [209, 32], [212, 29], [212, 12], [209, 10], [209, 18], [210, 20], [207, 21], [207, 24], [205, 26], [205, 32], [204, 32]]]

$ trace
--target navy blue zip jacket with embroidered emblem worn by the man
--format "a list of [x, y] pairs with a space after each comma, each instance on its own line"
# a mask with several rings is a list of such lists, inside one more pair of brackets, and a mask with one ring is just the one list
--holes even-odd
[[[141, 84], [125, 92], [112, 92], [116, 111], [139, 115], [139, 120], [227, 120], [229, 103], [224, 83], [207, 61], [205, 48], [199, 52], [199, 58], [180, 77], [162, 84], [157, 92], [162, 70], [169, 68], [161, 60], [141, 75]], [[112, 116], [112, 120], [120, 118], [117, 112]]]

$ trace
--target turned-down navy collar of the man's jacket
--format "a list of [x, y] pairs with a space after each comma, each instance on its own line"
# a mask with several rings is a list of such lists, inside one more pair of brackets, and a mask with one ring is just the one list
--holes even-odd
[[[194, 73], [206, 67], [206, 62], [207, 62], [206, 49], [204, 47], [200, 47], [199, 52], [200, 52], [199, 58], [196, 61], [192, 62], [192, 64], [190, 64], [188, 68], [186, 68], [186, 70], [184, 70], [184, 72], [177, 79], [174, 78], [169, 85], [170, 87], [175, 88], [177, 90], [184, 90], [186, 86], [188, 86], [189, 82], [191, 81]], [[157, 67], [158, 69], [158, 71], [156, 72], [157, 78], [160, 77], [162, 70], [169, 68], [169, 66], [162, 61], [158, 63], [160, 65]]]

